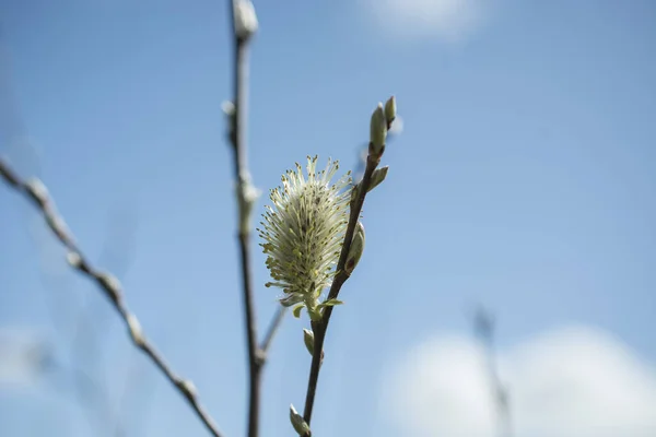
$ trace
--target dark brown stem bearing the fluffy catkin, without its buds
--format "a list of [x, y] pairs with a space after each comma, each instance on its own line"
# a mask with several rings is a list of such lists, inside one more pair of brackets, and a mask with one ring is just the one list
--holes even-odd
[[[370, 153], [366, 158], [366, 167], [364, 169], [364, 175], [362, 177], [362, 181], [356, 186], [358, 196], [351, 202], [351, 214], [349, 217], [349, 224], [347, 226], [347, 233], [344, 235], [344, 243], [342, 246], [341, 253], [339, 256], [339, 261], [337, 263], [337, 274], [332, 281], [332, 285], [330, 286], [330, 292], [328, 293], [328, 299], [335, 299], [338, 297], [342, 285], [344, 284], [344, 282], [347, 282], [347, 280], [350, 276], [350, 274], [347, 273], [344, 265], [347, 263], [349, 249], [351, 248], [351, 243], [353, 240], [353, 234], [355, 233], [355, 226], [358, 225], [358, 220], [360, 218], [360, 213], [362, 212], [364, 198], [366, 197], [366, 192], [372, 181], [372, 175], [378, 166], [378, 164], [380, 163], [380, 155], [382, 153], [377, 155], [373, 153], [372, 147], [370, 145]], [[308, 425], [312, 420], [312, 410], [314, 406], [315, 394], [317, 391], [317, 382], [319, 379], [324, 341], [326, 339], [326, 331], [328, 329], [328, 322], [330, 321], [331, 315], [332, 307], [326, 307], [321, 320], [317, 322], [312, 322], [315, 343], [314, 353], [312, 357], [312, 365], [309, 368], [309, 378], [307, 381], [307, 393], [305, 395], [305, 409], [303, 411], [303, 418]]]

